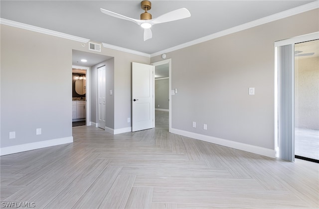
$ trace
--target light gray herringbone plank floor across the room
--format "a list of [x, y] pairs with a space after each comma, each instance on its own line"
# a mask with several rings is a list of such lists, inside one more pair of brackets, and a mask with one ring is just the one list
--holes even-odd
[[[2, 156], [1, 201], [38, 209], [319, 208], [319, 165], [168, 133], [73, 128], [74, 143]], [[1, 203], [2, 204], [2, 203]]]

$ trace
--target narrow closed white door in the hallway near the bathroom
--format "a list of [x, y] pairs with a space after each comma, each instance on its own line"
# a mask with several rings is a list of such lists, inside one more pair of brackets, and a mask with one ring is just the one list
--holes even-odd
[[98, 68], [98, 127], [105, 129], [106, 105], [105, 105], [105, 66]]

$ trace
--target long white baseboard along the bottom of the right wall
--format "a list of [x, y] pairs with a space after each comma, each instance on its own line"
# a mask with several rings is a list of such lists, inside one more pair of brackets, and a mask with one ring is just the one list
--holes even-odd
[[210, 142], [213, 144], [222, 145], [225, 147], [234, 148], [237, 150], [243, 150], [243, 151], [255, 153], [258, 155], [267, 156], [270, 158], [276, 158], [276, 151], [272, 150], [272, 149], [267, 149], [267, 148], [263, 148], [263, 147], [244, 144], [244, 143], [240, 143], [240, 142], [234, 142], [234, 141], [230, 141], [230, 140], [226, 140], [226, 139], [220, 139], [220, 138], [216, 138], [216, 137], [206, 136], [206, 135], [202, 135], [202, 134], [197, 134], [197, 133], [183, 131], [183, 130], [179, 130], [179, 129], [173, 129], [173, 128], [171, 129], [171, 133], [182, 135], [185, 137], [190, 137], [193, 139], [198, 139], [198, 140], [205, 141], [205, 142]]

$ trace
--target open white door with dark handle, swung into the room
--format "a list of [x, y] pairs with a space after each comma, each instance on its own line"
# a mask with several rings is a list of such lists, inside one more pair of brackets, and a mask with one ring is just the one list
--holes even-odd
[[154, 66], [132, 62], [132, 131], [154, 128]]

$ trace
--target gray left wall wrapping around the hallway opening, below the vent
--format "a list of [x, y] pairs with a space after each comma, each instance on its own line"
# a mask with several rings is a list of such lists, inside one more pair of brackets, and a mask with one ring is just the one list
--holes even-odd
[[[78, 41], [2, 24], [0, 30], [1, 148], [71, 137], [72, 49], [92, 51]], [[131, 63], [150, 58], [104, 47], [94, 53], [114, 57], [114, 128], [131, 127]]]

